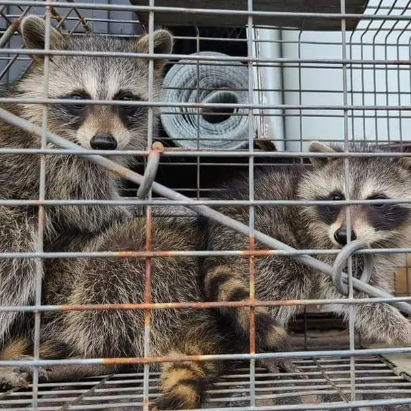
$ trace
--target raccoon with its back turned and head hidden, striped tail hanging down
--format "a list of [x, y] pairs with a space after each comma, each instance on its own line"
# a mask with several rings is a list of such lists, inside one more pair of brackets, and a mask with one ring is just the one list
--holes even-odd
[[[153, 219], [153, 250], [195, 250], [202, 235], [197, 221], [184, 218]], [[144, 218], [116, 221], [105, 232], [90, 239], [85, 249], [71, 251], [136, 251], [146, 247]], [[82, 245], [80, 245], [82, 247]], [[46, 271], [44, 301], [47, 304], [105, 304], [145, 302], [145, 258], [79, 258], [60, 260], [60, 269]], [[203, 301], [198, 281], [199, 260], [195, 257], [151, 259], [153, 303]], [[145, 355], [144, 310], [87, 310], [45, 313], [42, 316], [40, 355], [42, 358], [142, 358]], [[58, 336], [58, 340], [56, 337]], [[224, 329], [209, 309], [151, 310], [149, 356], [199, 356], [235, 353], [236, 338]], [[27, 358], [31, 347], [14, 340], [3, 351], [14, 358]], [[240, 351], [242, 352], [242, 351]], [[18, 356], [15, 354], [18, 353]], [[106, 362], [110, 364], [109, 362]], [[227, 370], [229, 364], [217, 360], [163, 362], [160, 364], [162, 395], [152, 409], [197, 408], [206, 390]], [[156, 370], [159, 367], [151, 365]], [[40, 381], [73, 380], [118, 371], [116, 366], [50, 366], [40, 369]], [[25, 386], [29, 368], [0, 369], [0, 383]]]

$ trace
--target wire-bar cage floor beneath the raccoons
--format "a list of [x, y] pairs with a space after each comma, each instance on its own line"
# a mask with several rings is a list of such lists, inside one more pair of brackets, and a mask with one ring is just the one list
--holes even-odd
[[[306, 358], [295, 361], [308, 379], [272, 374], [256, 367], [256, 406], [270, 410], [287, 409], [292, 404], [320, 406], [321, 410], [342, 410], [351, 398], [349, 358]], [[372, 401], [351, 410], [411, 410], [411, 377], [395, 373], [396, 368], [379, 356], [355, 359], [356, 401]], [[142, 408], [142, 373], [113, 374], [65, 384], [39, 384], [37, 410], [140, 410]], [[150, 373], [149, 398], [158, 396], [159, 374]], [[373, 406], [376, 400], [402, 399], [401, 404]], [[409, 399], [409, 403], [408, 403]], [[404, 403], [404, 401], [406, 403]], [[305, 404], [304, 407], [302, 404]], [[288, 405], [288, 407], [287, 407]], [[239, 364], [209, 392], [203, 408], [249, 406], [249, 368]], [[284, 406], [286, 408], [284, 408]], [[12, 389], [0, 394], [0, 408], [33, 409], [31, 387]], [[292, 407], [292, 409], [295, 409]]]

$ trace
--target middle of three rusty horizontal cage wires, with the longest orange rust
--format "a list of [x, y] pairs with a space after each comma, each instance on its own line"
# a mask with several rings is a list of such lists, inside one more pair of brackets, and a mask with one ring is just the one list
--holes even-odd
[[164, 303], [127, 303], [127, 304], [65, 304], [63, 306], [0, 306], [0, 312], [50, 312], [50, 311], [103, 311], [103, 310], [184, 310], [196, 308], [239, 308], [239, 307], [281, 307], [281, 306], [311, 306], [343, 304], [356, 306], [358, 304], [398, 303], [411, 301], [410, 296], [391, 298], [356, 298], [356, 299], [306, 299], [277, 301], [208, 301], [208, 302], [164, 302]]

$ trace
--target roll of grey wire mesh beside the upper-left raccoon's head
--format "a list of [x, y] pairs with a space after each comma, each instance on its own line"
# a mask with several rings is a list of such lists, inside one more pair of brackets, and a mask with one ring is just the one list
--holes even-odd
[[[223, 53], [193, 55], [221, 58]], [[164, 78], [167, 103], [248, 104], [248, 70], [240, 62], [180, 60]], [[238, 149], [249, 140], [247, 108], [162, 107], [164, 130], [175, 145], [190, 149]]]

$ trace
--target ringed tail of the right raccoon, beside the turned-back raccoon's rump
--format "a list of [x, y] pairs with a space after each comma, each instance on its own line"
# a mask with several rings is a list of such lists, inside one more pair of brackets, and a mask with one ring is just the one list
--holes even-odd
[[[208, 269], [203, 279], [203, 291], [208, 301], [245, 301], [249, 299], [248, 282], [236, 275], [229, 265]], [[249, 340], [250, 308], [219, 308], [219, 312], [234, 326], [234, 331]], [[265, 307], [256, 307], [256, 349], [258, 351], [288, 351], [288, 333], [277, 324]]]

